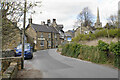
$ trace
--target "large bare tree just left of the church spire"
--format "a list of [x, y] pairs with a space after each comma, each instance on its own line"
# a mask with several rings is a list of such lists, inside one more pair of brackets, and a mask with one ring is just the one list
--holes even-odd
[[93, 24], [93, 14], [88, 7], [85, 7], [78, 15], [77, 22], [83, 24], [84, 27], [92, 26]]

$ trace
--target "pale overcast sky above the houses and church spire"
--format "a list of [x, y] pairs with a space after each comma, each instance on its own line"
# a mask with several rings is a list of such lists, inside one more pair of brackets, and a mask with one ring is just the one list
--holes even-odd
[[[89, 7], [95, 16], [99, 7], [100, 20], [104, 26], [111, 14], [117, 14], [118, 2], [119, 0], [42, 0], [42, 7], [34, 8], [37, 12], [32, 15], [33, 23], [40, 24], [41, 21], [55, 18], [58, 24], [64, 25], [64, 31], [72, 30], [77, 15], [84, 7]], [[30, 15], [27, 19], [29, 17]]]

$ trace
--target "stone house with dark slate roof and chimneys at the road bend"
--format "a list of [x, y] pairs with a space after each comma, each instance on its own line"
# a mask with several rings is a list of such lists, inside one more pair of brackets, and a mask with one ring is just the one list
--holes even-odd
[[57, 25], [56, 19], [53, 19], [52, 23], [48, 19], [47, 24], [44, 21], [41, 24], [34, 24], [30, 18], [25, 30], [27, 42], [31, 43], [36, 50], [57, 48], [61, 44], [58, 27], [60, 25]]

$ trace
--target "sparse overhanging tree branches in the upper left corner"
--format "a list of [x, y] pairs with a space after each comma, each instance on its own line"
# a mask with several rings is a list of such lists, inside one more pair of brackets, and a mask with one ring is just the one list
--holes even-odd
[[[37, 6], [37, 3], [28, 2], [26, 11], [28, 12], [33, 7]], [[1, 5], [2, 5], [1, 7], [2, 18], [8, 18], [10, 21], [16, 21], [16, 22], [20, 21], [24, 13], [24, 1], [2, 2]], [[35, 13], [35, 11], [31, 13]]]

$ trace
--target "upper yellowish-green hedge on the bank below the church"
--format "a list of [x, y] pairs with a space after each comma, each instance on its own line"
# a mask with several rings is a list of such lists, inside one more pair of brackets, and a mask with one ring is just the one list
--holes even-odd
[[107, 33], [107, 29], [102, 29], [100, 31], [96, 31], [94, 34], [89, 33], [89, 34], [78, 34], [77, 37], [73, 38], [73, 42], [79, 42], [79, 41], [84, 41], [84, 40], [94, 40], [100, 37], [120, 37], [119, 33], [120, 29], [109, 29]]

